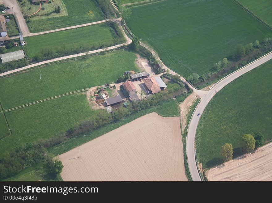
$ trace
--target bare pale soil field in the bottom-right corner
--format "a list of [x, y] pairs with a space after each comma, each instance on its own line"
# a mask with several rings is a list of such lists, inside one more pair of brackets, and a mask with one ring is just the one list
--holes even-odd
[[206, 172], [209, 181], [272, 181], [272, 142]]

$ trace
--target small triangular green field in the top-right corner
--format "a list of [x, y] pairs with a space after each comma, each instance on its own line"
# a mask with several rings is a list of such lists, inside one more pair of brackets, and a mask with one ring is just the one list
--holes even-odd
[[272, 26], [272, 1], [271, 0], [238, 0], [260, 19]]

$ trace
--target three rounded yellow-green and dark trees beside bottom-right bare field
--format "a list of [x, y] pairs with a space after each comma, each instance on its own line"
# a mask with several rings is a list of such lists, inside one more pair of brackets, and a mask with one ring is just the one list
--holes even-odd
[[[261, 133], [256, 133], [254, 136], [251, 134], [244, 134], [240, 140], [241, 149], [244, 153], [248, 153], [264, 144], [264, 137]], [[231, 160], [233, 158], [233, 146], [230, 143], [225, 143], [221, 147], [221, 155], [224, 161]]]

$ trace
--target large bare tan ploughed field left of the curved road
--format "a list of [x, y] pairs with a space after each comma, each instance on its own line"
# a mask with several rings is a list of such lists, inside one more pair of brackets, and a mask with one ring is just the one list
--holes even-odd
[[179, 117], [150, 113], [79, 148], [59, 156], [64, 181], [187, 181]]

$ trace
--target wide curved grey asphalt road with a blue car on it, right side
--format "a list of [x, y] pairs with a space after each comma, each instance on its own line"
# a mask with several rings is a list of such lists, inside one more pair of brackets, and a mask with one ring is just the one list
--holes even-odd
[[[228, 83], [232, 82], [241, 75], [249, 72], [250, 70], [256, 68], [257, 66], [260, 66], [266, 61], [269, 61], [270, 59], [272, 59], [272, 52], [260, 57], [256, 61], [249, 63], [248, 65], [240, 68], [239, 70], [236, 70], [232, 74], [229, 74], [228, 76], [217, 82], [209, 91], [194, 90], [201, 97], [201, 102], [195, 109], [195, 112], [193, 113], [192, 119], [189, 123], [186, 147], [189, 171], [191, 173], [193, 181], [201, 181], [200, 176], [198, 174], [197, 163], [195, 160], [195, 133], [198, 127], [198, 121], [200, 119], [200, 116], [202, 115], [210, 99], [216, 94], [215, 90], [217, 91], [221, 90]], [[258, 81], [256, 81], [256, 84], [258, 84]], [[198, 113], [200, 113], [200, 116], [197, 116]]]

